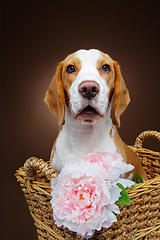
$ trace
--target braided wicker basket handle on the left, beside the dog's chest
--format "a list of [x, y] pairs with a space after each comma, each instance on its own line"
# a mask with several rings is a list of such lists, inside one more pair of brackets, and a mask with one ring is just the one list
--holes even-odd
[[28, 180], [35, 180], [38, 171], [49, 181], [51, 178], [56, 178], [58, 176], [57, 171], [52, 168], [50, 164], [36, 157], [31, 157], [26, 160], [24, 163], [24, 170]]

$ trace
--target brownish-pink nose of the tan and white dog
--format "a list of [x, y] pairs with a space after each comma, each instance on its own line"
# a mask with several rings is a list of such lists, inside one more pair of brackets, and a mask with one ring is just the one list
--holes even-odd
[[99, 90], [100, 87], [98, 83], [94, 81], [82, 82], [78, 87], [79, 93], [88, 100], [94, 98], [97, 95], [97, 93], [99, 93]]

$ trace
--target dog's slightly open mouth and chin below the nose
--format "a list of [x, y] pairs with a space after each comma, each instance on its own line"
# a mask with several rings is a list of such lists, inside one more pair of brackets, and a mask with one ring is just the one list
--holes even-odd
[[83, 124], [94, 124], [101, 119], [102, 116], [93, 107], [88, 105], [79, 114], [74, 115], [74, 118]]

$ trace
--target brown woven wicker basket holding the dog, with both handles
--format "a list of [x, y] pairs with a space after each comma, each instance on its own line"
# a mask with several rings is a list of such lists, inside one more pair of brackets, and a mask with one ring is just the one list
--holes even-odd
[[[160, 133], [141, 133], [131, 149], [140, 158], [149, 180], [136, 184], [129, 190], [130, 205], [120, 206], [118, 221], [109, 229], [96, 231], [93, 239], [160, 239], [160, 153], [142, 148], [146, 137], [160, 141]], [[39, 240], [82, 239], [67, 228], [58, 228], [52, 216], [50, 180], [58, 175], [49, 162], [35, 157], [29, 158], [24, 167], [16, 172], [26, 197], [30, 213], [37, 227]]]

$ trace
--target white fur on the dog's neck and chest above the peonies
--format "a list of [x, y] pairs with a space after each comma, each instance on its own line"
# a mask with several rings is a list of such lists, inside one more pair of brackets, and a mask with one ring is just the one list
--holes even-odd
[[[113, 137], [110, 136], [112, 120], [106, 116], [93, 125], [83, 125], [75, 121], [66, 109], [65, 124], [56, 142], [54, 158], [51, 166], [60, 172], [65, 160], [87, 153], [110, 152], [116, 154]], [[112, 129], [112, 136], [114, 131]]]

